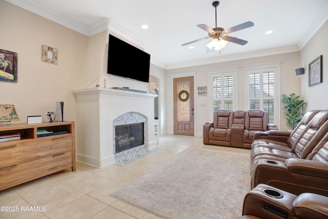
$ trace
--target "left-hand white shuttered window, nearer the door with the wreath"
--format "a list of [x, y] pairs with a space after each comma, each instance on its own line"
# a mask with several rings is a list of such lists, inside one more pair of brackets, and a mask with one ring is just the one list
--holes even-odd
[[212, 74], [212, 115], [219, 109], [234, 109], [234, 72]]

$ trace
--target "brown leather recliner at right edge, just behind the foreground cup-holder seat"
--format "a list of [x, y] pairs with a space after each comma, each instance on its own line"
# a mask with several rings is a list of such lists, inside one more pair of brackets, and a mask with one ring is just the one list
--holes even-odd
[[328, 196], [328, 132], [304, 159], [254, 160], [251, 188], [267, 184], [293, 194], [312, 192]]

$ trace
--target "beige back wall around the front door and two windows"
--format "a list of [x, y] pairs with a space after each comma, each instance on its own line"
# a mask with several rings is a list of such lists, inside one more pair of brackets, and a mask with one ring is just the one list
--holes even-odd
[[[198, 86], [207, 86], [209, 85], [209, 72], [213, 71], [230, 71], [232, 69], [238, 71], [238, 106], [236, 109], [238, 110], [247, 110], [245, 109], [244, 102], [244, 92], [245, 92], [245, 67], [250, 66], [265, 66], [270, 65], [271, 63], [281, 62], [280, 64], [280, 81], [278, 82], [280, 90], [279, 96], [281, 94], [290, 94], [295, 92], [300, 94], [300, 78], [295, 75], [295, 69], [299, 66], [299, 53], [285, 53], [279, 55], [271, 55], [271, 56], [263, 56], [257, 58], [249, 58], [249, 59], [241, 59], [237, 61], [224, 62], [224, 63], [216, 63], [210, 65], [202, 65], [202, 66], [194, 66], [188, 68], [179, 68], [168, 70], [168, 82], [169, 78], [175, 74], [196, 74], [196, 78], [194, 80], [195, 87]], [[168, 90], [168, 133], [173, 133], [173, 94], [171, 92], [171, 84], [167, 83]], [[280, 99], [280, 98], [279, 98]], [[280, 104], [280, 102], [279, 102]], [[195, 134], [197, 136], [201, 136], [202, 134], [202, 126], [204, 123], [213, 121], [213, 118], [210, 116], [209, 109], [209, 95], [207, 96], [197, 96], [195, 95]], [[278, 107], [281, 109], [281, 107]], [[288, 127], [285, 124], [284, 116], [280, 113], [280, 129], [287, 130]]]

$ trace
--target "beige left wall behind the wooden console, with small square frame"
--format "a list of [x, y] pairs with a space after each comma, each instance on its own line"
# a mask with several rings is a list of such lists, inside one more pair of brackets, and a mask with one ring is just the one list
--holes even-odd
[[[20, 121], [28, 115], [55, 111], [64, 101], [66, 120], [75, 120], [75, 101], [85, 62], [88, 37], [27, 10], [0, 0], [0, 14], [6, 22], [0, 34], [1, 49], [18, 53], [18, 82], [0, 82], [2, 104], [14, 104]], [[58, 49], [58, 64], [42, 62], [42, 45]]]

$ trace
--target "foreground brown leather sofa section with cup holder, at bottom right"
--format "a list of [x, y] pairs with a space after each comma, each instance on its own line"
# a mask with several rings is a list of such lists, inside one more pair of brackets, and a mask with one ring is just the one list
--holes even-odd
[[264, 184], [244, 197], [239, 219], [328, 218], [328, 197], [302, 193], [295, 195]]

